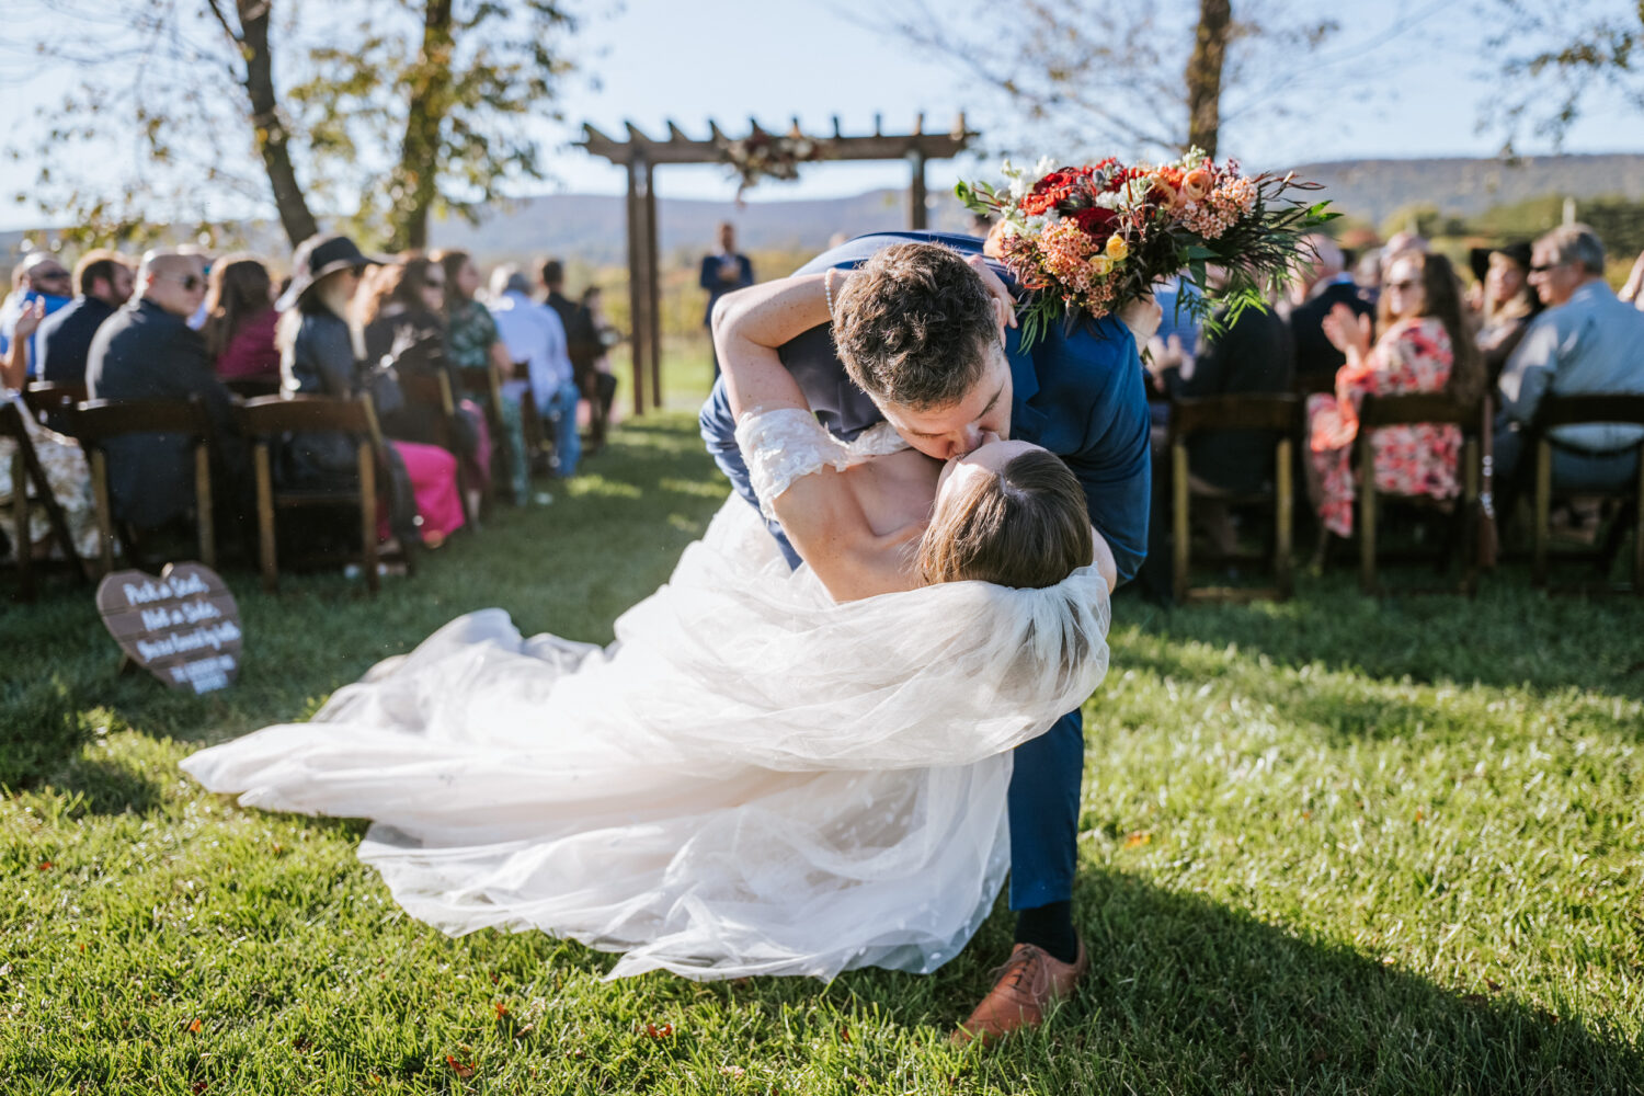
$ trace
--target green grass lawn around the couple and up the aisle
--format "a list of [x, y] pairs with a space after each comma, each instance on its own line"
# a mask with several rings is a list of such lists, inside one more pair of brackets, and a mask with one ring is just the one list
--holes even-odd
[[[689, 385], [686, 388], [690, 388]], [[3, 1093], [1601, 1093], [1644, 1088], [1644, 605], [1527, 590], [1121, 598], [1087, 708], [1093, 956], [1032, 1035], [950, 1050], [1003, 904], [917, 978], [603, 983], [539, 933], [401, 914], [363, 823], [240, 810], [176, 762], [301, 718], [457, 613], [608, 641], [725, 488], [631, 421], [552, 506], [376, 598], [225, 569], [238, 684], [115, 674], [87, 590], [0, 608]]]

